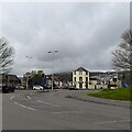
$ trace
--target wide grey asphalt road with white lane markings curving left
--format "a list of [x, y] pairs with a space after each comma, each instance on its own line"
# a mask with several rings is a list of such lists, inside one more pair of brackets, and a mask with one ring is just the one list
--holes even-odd
[[66, 98], [76, 92], [18, 90], [2, 96], [3, 130], [130, 130], [130, 109]]

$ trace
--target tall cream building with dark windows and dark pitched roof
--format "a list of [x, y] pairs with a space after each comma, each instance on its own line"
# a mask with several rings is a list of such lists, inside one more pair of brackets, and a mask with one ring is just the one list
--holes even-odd
[[73, 86], [77, 89], [88, 89], [89, 72], [82, 67], [73, 72]]

